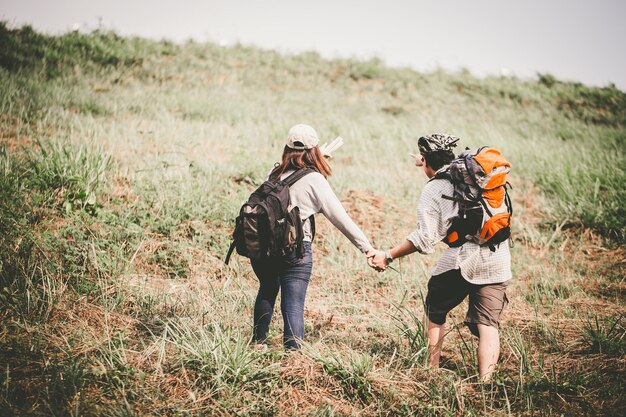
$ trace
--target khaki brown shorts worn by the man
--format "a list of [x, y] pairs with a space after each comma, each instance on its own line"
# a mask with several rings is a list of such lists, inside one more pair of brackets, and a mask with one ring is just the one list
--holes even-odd
[[463, 278], [459, 269], [435, 275], [428, 281], [426, 311], [435, 324], [444, 324], [446, 316], [469, 295], [465, 324], [478, 336], [477, 324], [500, 328], [500, 317], [509, 303], [506, 282], [475, 285]]

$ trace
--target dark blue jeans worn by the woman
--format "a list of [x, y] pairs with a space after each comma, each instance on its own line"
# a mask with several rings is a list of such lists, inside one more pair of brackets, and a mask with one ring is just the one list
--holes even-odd
[[288, 350], [300, 348], [298, 341], [304, 339], [304, 299], [313, 270], [311, 243], [303, 244], [302, 258], [293, 255], [252, 261], [252, 269], [260, 284], [254, 303], [254, 342], [265, 343], [267, 339], [280, 289], [280, 309], [285, 322], [283, 343]]

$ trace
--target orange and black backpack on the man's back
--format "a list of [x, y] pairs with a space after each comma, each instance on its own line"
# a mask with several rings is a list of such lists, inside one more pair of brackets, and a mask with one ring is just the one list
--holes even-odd
[[459, 214], [453, 219], [444, 242], [458, 247], [465, 242], [489, 246], [491, 251], [511, 236], [513, 206], [507, 191], [511, 164], [499, 150], [483, 146], [467, 149], [447, 170], [433, 179], [447, 179], [454, 186], [452, 196]]

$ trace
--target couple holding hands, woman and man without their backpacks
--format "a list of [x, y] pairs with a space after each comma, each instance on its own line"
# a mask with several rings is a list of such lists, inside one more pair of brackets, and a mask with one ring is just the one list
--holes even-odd
[[[323, 149], [318, 146], [316, 131], [308, 125], [293, 126], [287, 135], [281, 162], [271, 171], [269, 180], [283, 181], [291, 174], [310, 168], [293, 184], [289, 184], [290, 206], [299, 209], [302, 242], [299, 253], [282, 257], [251, 259], [259, 280], [254, 305], [252, 342], [267, 340], [274, 304], [281, 291], [286, 349], [299, 349], [304, 338], [304, 302], [313, 266], [311, 242], [315, 233], [314, 215], [322, 213], [367, 258], [369, 266], [384, 271], [395, 259], [414, 252], [428, 254], [435, 245], [446, 241], [451, 224], [459, 217], [451, 181], [439, 175], [455, 159], [452, 149], [458, 138], [432, 134], [418, 139], [420, 155], [416, 165], [430, 179], [424, 186], [417, 205], [417, 226], [397, 246], [376, 250], [361, 229], [350, 218], [333, 192], [327, 178], [331, 175]], [[508, 236], [507, 236], [508, 237]], [[446, 334], [446, 316], [469, 296], [465, 324], [478, 337], [478, 369], [488, 381], [500, 354], [500, 317], [508, 303], [507, 281], [511, 278], [508, 242], [495, 246], [467, 241], [449, 247], [439, 259], [428, 282], [425, 312], [428, 321], [429, 364], [439, 367], [441, 347]]]

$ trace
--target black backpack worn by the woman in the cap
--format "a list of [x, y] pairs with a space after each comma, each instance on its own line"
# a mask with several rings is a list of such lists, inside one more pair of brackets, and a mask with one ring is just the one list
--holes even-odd
[[[289, 210], [289, 187], [312, 172], [312, 168], [301, 168], [284, 180], [265, 181], [241, 206], [235, 220], [233, 243], [230, 245], [225, 263], [236, 248], [237, 253], [250, 259], [283, 257], [295, 253], [304, 256], [302, 220], [300, 209]], [[315, 233], [315, 218], [311, 216], [311, 230]]]

